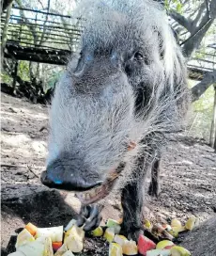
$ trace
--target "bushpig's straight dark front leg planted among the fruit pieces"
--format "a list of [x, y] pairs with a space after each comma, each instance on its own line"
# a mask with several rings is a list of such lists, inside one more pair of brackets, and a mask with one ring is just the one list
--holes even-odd
[[129, 184], [122, 189], [121, 204], [123, 208], [122, 232], [129, 239], [137, 240], [142, 229], [142, 208], [144, 202], [144, 182], [146, 177], [145, 159], [138, 159], [137, 169]]

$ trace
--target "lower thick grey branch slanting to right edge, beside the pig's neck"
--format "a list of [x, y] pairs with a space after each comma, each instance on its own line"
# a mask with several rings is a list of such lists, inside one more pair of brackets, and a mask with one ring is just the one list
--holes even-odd
[[197, 101], [200, 96], [216, 82], [216, 71], [208, 72], [203, 80], [192, 88], [192, 101]]

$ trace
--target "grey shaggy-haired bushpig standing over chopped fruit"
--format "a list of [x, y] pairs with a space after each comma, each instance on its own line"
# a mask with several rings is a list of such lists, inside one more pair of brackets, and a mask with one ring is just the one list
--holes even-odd
[[120, 191], [122, 231], [135, 239], [147, 169], [158, 194], [161, 149], [187, 111], [185, 61], [159, 3], [83, 0], [74, 13], [85, 24], [54, 91], [41, 181], [80, 191], [85, 230], [100, 223], [94, 203]]

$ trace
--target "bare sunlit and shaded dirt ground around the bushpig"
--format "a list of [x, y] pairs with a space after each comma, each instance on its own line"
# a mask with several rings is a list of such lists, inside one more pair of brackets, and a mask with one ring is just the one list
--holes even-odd
[[[80, 206], [72, 194], [40, 184], [45, 168], [48, 108], [2, 93], [2, 255], [14, 250], [15, 231], [29, 221], [39, 227], [66, 225]], [[117, 200], [109, 200], [103, 219], [120, 216]], [[216, 213], [216, 154], [201, 140], [179, 136], [162, 158], [162, 193], [147, 197], [144, 214], [152, 221], [182, 221]], [[108, 255], [100, 239], [88, 238], [82, 255]]]

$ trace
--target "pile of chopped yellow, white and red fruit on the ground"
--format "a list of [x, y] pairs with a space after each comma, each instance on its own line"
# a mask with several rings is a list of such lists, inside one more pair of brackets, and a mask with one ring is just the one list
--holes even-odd
[[[98, 227], [91, 235], [103, 237], [109, 243], [109, 256], [144, 255], [144, 256], [190, 256], [186, 248], [175, 245], [172, 240], [179, 232], [192, 231], [198, 225], [198, 218], [192, 216], [185, 226], [178, 219], [173, 219], [171, 224], [152, 225], [145, 220], [144, 227], [153, 236], [160, 238], [157, 245], [140, 234], [138, 243], [128, 240], [119, 234], [120, 223], [109, 218], [106, 227]], [[73, 252], [81, 252], [84, 248], [85, 232], [76, 225], [72, 219], [65, 229], [63, 226], [52, 228], [38, 228], [28, 223], [17, 236], [16, 251], [8, 256], [73, 256]]]

